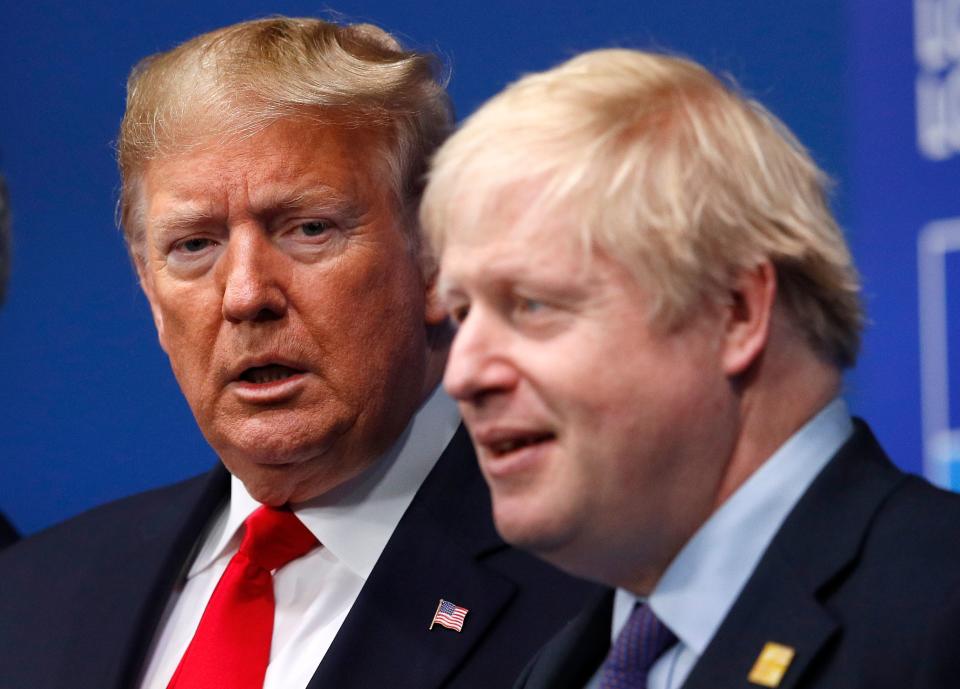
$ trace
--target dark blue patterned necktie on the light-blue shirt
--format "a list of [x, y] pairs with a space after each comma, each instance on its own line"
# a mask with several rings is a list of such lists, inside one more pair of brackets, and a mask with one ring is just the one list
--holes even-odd
[[647, 675], [677, 637], [639, 603], [600, 666], [600, 689], [647, 689]]

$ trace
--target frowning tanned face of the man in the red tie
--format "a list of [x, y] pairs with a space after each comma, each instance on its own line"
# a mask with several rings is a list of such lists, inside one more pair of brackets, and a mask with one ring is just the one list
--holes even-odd
[[433, 310], [376, 143], [287, 120], [145, 169], [138, 270], [160, 342], [262, 502], [360, 473], [428, 392]]

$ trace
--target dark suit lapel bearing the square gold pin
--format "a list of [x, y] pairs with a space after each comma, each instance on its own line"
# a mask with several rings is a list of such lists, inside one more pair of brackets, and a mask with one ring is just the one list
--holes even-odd
[[747, 676], [767, 642], [795, 651], [779, 689], [803, 687], [842, 632], [823, 601], [856, 562], [874, 514], [903, 478], [857, 422], [774, 537], [684, 689], [756, 688]]

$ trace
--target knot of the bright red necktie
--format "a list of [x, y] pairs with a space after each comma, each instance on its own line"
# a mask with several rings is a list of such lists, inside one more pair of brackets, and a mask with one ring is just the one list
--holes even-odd
[[316, 537], [288, 509], [261, 505], [244, 526], [239, 552], [267, 571], [280, 569], [317, 546]]

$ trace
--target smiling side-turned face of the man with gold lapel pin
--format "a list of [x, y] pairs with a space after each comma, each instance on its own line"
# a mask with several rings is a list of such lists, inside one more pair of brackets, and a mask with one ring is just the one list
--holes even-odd
[[440, 273], [461, 321], [444, 384], [497, 527], [564, 569], [643, 589], [714, 508], [732, 451], [719, 315], [651, 329], [651, 295], [584, 254], [573, 214], [502, 209], [469, 237], [451, 228]]

